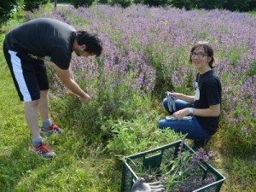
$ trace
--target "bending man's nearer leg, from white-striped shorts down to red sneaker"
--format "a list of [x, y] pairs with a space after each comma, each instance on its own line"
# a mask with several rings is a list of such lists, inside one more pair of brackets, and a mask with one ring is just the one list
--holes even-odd
[[44, 144], [38, 127], [38, 98], [40, 96], [33, 70], [35, 65], [27, 55], [7, 49], [5, 44], [3, 52], [20, 96], [20, 101], [25, 102], [26, 123], [32, 133], [32, 150], [43, 158], [51, 159], [55, 156], [55, 153]]

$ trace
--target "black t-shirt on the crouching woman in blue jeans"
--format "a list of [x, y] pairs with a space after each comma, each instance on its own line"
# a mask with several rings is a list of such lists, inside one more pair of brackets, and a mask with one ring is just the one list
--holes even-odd
[[[196, 75], [196, 82], [200, 90], [199, 100], [195, 100], [195, 108], [209, 108], [210, 105], [221, 104], [221, 84], [218, 76], [211, 70], [204, 74]], [[218, 117], [200, 117], [195, 118], [209, 133], [213, 134], [218, 129]]]

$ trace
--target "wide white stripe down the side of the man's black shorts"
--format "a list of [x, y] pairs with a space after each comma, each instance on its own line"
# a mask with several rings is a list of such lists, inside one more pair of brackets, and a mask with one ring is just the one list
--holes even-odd
[[30, 96], [30, 93], [27, 89], [26, 82], [22, 73], [22, 67], [20, 58], [16, 55], [17, 52], [9, 50], [9, 55], [11, 57], [11, 63], [13, 66], [13, 70], [15, 73], [15, 79], [20, 87], [20, 92], [23, 96], [24, 102], [32, 102], [32, 98]]

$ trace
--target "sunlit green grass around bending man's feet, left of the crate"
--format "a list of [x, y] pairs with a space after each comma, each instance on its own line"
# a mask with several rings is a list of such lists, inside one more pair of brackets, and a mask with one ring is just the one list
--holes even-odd
[[[15, 26], [17, 21], [12, 24]], [[9, 31], [9, 27], [4, 31]], [[32, 154], [23, 103], [15, 91], [3, 49], [0, 50], [0, 77], [1, 191], [114, 191], [119, 187], [110, 183], [112, 175], [120, 177], [118, 170], [114, 170], [115, 160], [102, 153], [101, 143], [86, 145], [86, 136], [79, 134], [78, 128], [73, 127], [61, 136], [44, 137], [58, 154], [55, 160], [41, 160]]]

